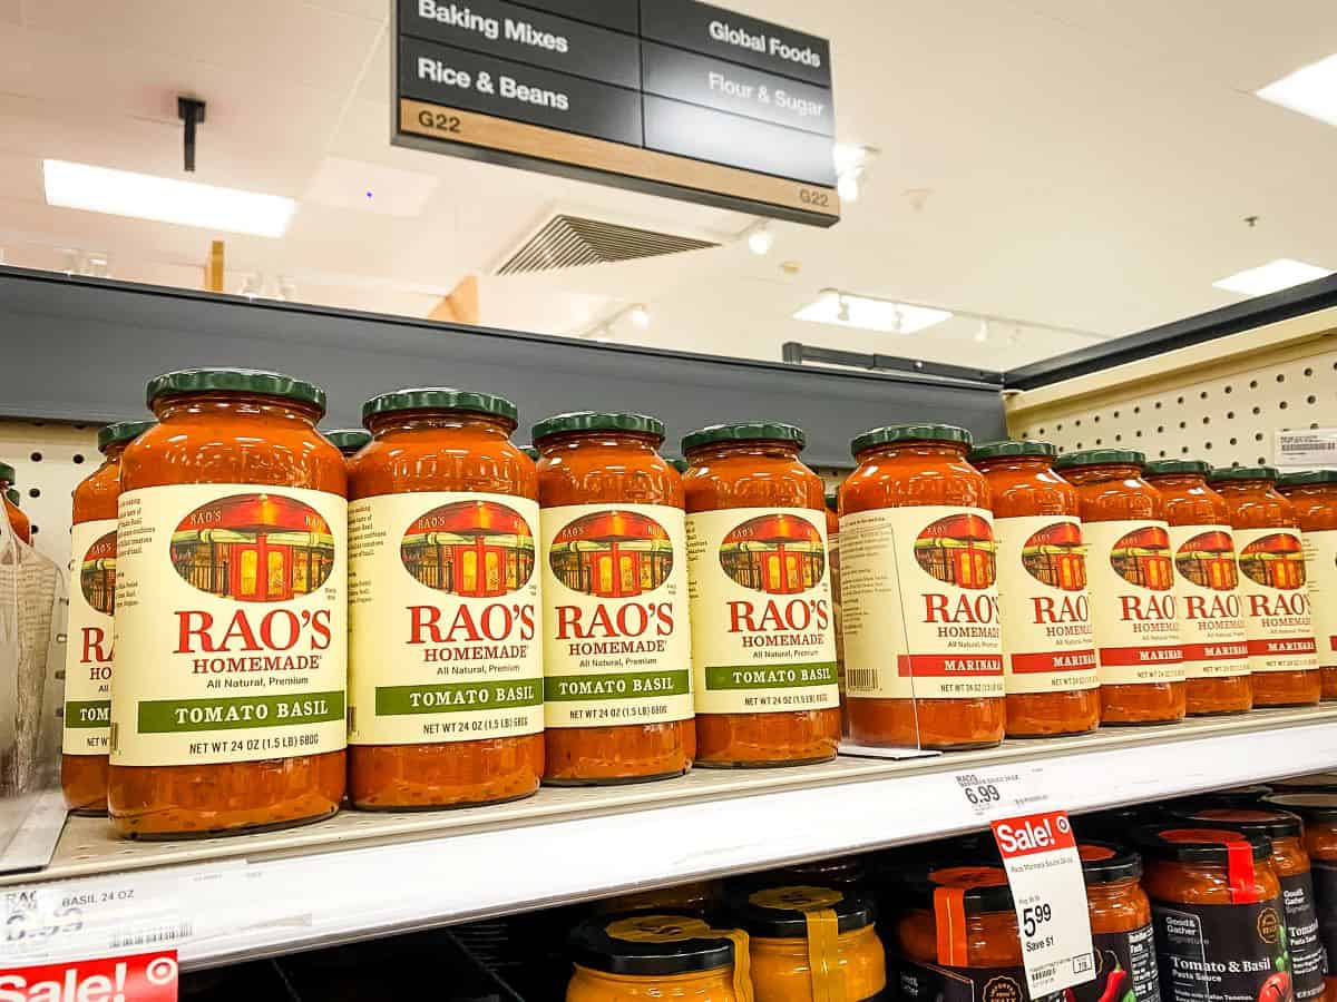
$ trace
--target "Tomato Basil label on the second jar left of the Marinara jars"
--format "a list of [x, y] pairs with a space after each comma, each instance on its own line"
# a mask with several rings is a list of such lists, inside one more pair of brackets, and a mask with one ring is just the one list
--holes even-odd
[[547, 725], [691, 720], [682, 509], [560, 505], [539, 528]]

